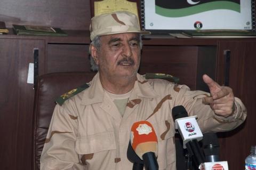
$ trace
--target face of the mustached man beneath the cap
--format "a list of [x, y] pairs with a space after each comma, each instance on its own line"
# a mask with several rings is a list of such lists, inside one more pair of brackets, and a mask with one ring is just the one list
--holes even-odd
[[136, 76], [140, 64], [139, 36], [135, 33], [123, 33], [100, 37], [100, 50], [94, 54], [97, 55], [95, 62], [99, 65], [102, 76]]

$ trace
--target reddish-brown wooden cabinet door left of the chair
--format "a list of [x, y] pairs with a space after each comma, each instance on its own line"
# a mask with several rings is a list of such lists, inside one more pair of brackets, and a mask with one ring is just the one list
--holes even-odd
[[33, 84], [27, 84], [33, 49], [44, 58], [44, 41], [1, 38], [0, 164], [1, 169], [31, 168]]

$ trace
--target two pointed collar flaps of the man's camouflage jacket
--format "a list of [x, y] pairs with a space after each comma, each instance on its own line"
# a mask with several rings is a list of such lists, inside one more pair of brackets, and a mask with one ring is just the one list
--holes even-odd
[[[82, 105], [90, 105], [103, 102], [105, 91], [100, 82], [99, 72], [93, 77], [88, 87], [83, 94]], [[159, 95], [154, 91], [149, 82], [140, 74], [137, 74], [137, 80], [132, 90], [131, 99], [138, 97], [142, 98], [157, 98]]]

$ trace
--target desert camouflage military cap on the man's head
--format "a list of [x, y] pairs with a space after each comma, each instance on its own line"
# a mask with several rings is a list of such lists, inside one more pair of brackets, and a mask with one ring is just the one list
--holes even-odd
[[90, 33], [91, 40], [96, 36], [119, 33], [150, 34], [149, 31], [141, 30], [137, 16], [127, 11], [116, 11], [93, 17]]

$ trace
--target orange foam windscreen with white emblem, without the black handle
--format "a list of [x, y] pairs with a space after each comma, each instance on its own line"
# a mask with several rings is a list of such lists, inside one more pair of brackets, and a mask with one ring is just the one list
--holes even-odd
[[144, 153], [157, 155], [157, 136], [153, 126], [147, 121], [136, 122], [131, 128], [131, 144], [135, 153], [142, 159]]

